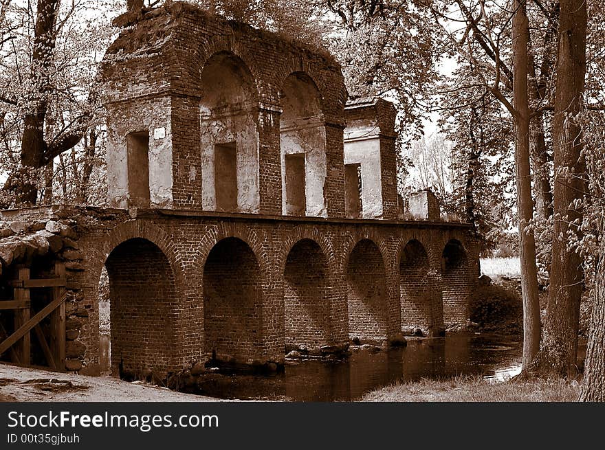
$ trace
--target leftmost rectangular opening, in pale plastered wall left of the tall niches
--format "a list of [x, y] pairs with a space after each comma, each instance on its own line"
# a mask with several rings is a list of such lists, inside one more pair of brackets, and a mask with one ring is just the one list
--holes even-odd
[[149, 207], [149, 132], [129, 133], [126, 147], [130, 203], [135, 207]]

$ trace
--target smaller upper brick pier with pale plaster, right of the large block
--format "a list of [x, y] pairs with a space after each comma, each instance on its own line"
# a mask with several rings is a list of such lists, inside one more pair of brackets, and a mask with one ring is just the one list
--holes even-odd
[[397, 218], [395, 113], [381, 98], [351, 100], [345, 108], [347, 217]]

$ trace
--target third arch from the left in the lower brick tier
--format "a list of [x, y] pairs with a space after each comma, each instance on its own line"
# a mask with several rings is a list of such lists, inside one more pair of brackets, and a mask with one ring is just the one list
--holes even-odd
[[330, 334], [328, 265], [320, 246], [299, 240], [284, 268], [285, 348], [316, 350]]

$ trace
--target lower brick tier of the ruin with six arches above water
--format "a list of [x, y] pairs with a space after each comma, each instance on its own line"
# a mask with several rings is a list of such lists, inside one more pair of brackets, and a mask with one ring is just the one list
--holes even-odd
[[[67, 242], [79, 259], [67, 269], [67, 311], [77, 319], [82, 373], [100, 371], [103, 267], [114, 374], [121, 365], [157, 376], [208, 361], [213, 350], [230, 363], [280, 363], [300, 344], [319, 353], [354, 337], [391, 339], [410, 325], [463, 324], [476, 282], [467, 225], [157, 209], [40, 214], [69, 217], [74, 230]], [[420, 246], [421, 258], [410, 251]], [[408, 262], [419, 261], [425, 276], [412, 278]], [[410, 324], [407, 295], [423, 291], [427, 279], [433, 295]]]

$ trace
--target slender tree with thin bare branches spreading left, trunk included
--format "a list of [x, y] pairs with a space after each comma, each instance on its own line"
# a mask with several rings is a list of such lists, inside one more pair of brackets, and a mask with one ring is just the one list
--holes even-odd
[[[476, 67], [477, 76], [483, 80], [483, 89], [500, 101], [514, 121], [524, 369], [529, 366], [540, 346], [536, 240], [533, 227], [530, 226], [533, 198], [529, 141], [530, 36], [526, 3], [526, 0], [514, 0], [511, 9], [508, 9], [505, 2], [492, 1], [490, 5], [483, 0], [445, 0], [441, 8], [432, 6], [434, 18], [443, 27], [443, 33], [448, 36], [452, 47]], [[452, 15], [450, 7], [457, 10], [457, 14]], [[456, 30], [456, 24], [460, 23], [463, 27]], [[511, 55], [507, 54], [507, 45], [512, 50]]]

